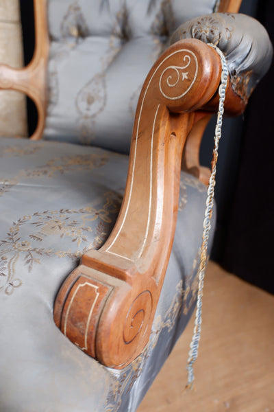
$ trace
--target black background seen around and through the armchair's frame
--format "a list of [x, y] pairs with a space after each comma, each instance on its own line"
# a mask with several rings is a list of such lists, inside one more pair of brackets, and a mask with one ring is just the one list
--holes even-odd
[[[240, 12], [255, 16], [274, 43], [273, 0], [243, 0]], [[21, 0], [25, 65], [34, 50], [32, 0]], [[242, 279], [274, 293], [274, 66], [253, 92], [244, 115], [225, 119], [216, 183], [217, 225], [211, 258]], [[34, 103], [27, 100], [29, 134], [36, 127]], [[212, 119], [201, 146], [201, 164], [210, 165]]]

